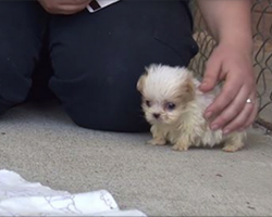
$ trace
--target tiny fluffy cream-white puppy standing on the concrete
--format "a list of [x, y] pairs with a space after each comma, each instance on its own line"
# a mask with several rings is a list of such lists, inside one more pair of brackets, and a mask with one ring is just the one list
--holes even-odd
[[223, 151], [235, 152], [244, 146], [246, 131], [224, 136], [211, 130], [203, 112], [219, 93], [219, 87], [209, 93], [198, 90], [200, 81], [185, 67], [151, 64], [137, 82], [143, 95], [141, 107], [151, 125], [152, 140], [148, 143], [173, 144], [176, 151], [190, 146], [224, 144]]

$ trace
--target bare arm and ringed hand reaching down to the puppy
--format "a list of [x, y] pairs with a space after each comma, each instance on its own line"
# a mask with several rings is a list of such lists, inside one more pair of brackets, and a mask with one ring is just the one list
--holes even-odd
[[[243, 130], [254, 123], [258, 104], [252, 67], [250, 0], [198, 0], [210, 33], [218, 41], [209, 58], [200, 90], [224, 86], [207, 108], [206, 118], [214, 117], [210, 127], [224, 133]], [[249, 101], [250, 102], [250, 101]]]

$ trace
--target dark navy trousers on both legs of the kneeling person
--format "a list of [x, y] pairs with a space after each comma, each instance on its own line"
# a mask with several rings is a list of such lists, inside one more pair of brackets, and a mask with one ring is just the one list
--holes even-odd
[[46, 74], [77, 125], [146, 131], [137, 79], [151, 63], [188, 65], [198, 51], [191, 27], [180, 0], [122, 0], [69, 16], [50, 15], [37, 1], [0, 1], [0, 114]]

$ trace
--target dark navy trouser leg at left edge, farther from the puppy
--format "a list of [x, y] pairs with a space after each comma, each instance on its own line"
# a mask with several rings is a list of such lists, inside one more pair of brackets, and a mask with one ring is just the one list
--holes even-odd
[[26, 99], [45, 27], [37, 1], [0, 1], [0, 115]]

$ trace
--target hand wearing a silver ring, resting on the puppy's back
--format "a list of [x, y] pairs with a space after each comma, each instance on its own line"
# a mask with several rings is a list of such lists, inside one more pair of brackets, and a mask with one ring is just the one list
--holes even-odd
[[[212, 117], [211, 129], [222, 129], [224, 135], [244, 130], [254, 123], [258, 112], [249, 49], [222, 43], [213, 50], [199, 89], [210, 91], [221, 80], [225, 81], [222, 91], [207, 107], [205, 117]], [[254, 103], [247, 102], [248, 99]]]

